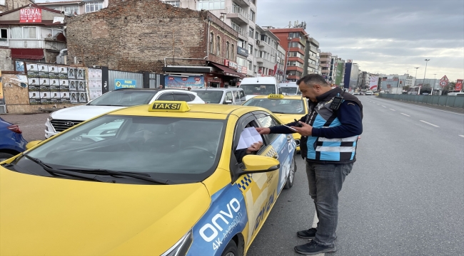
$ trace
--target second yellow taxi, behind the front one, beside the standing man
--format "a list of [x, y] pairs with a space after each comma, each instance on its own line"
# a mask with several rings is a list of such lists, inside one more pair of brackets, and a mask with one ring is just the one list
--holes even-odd
[[[299, 120], [308, 114], [308, 100], [301, 95], [259, 95], [244, 102], [243, 106], [264, 107], [276, 114], [283, 124], [295, 122], [295, 119]], [[293, 139], [296, 142], [296, 150], [300, 151], [301, 135], [294, 133]]]

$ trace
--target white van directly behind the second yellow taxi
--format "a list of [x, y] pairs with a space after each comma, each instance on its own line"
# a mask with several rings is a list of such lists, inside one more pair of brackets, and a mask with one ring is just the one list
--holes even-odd
[[240, 83], [246, 95], [246, 100], [256, 95], [281, 94], [281, 87], [274, 77], [243, 78]]

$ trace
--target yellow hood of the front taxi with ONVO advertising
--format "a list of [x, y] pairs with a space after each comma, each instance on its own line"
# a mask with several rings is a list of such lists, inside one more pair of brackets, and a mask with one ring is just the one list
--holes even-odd
[[161, 255], [210, 203], [203, 183], [76, 181], [0, 166], [0, 255]]

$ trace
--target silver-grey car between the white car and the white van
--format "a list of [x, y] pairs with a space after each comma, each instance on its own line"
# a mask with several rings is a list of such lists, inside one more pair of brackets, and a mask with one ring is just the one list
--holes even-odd
[[245, 92], [242, 88], [201, 88], [192, 90], [206, 103], [242, 105]]

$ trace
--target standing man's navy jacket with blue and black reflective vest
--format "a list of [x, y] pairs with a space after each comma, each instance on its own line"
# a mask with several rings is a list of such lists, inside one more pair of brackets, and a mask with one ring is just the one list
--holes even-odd
[[[343, 95], [338, 110], [329, 108], [333, 97]], [[309, 102], [309, 113], [301, 117], [301, 122], [313, 126], [311, 137], [301, 137], [301, 156], [308, 162], [348, 164], [355, 159], [358, 135], [363, 132], [363, 105], [358, 97], [343, 93], [340, 88], [330, 90], [316, 97], [317, 102]], [[286, 124], [295, 126], [296, 122]], [[285, 126], [271, 127], [271, 133], [290, 134]]]

